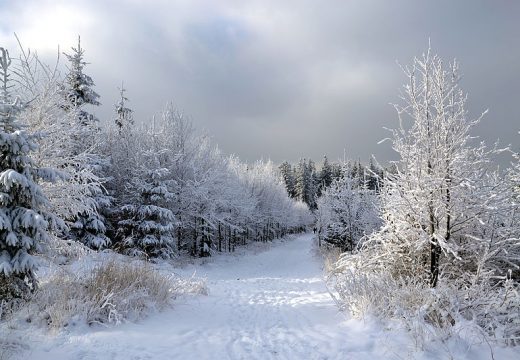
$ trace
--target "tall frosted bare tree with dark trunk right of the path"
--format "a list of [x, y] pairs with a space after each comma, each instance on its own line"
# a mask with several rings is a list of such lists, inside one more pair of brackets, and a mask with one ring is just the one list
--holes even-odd
[[446, 67], [428, 51], [405, 72], [404, 104], [396, 105], [400, 128], [393, 130], [401, 160], [384, 182], [385, 225], [374, 240], [395, 271], [435, 287], [441, 271], [456, 277], [461, 266], [478, 266], [483, 244], [493, 245], [481, 238], [489, 236], [481, 222], [492, 221], [490, 209], [502, 204], [489, 166], [493, 150], [471, 143], [480, 118], [467, 119], [458, 65]]

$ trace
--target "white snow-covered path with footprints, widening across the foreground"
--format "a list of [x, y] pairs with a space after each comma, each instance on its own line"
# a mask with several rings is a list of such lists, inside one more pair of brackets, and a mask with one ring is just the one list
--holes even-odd
[[[421, 351], [404, 331], [348, 319], [331, 299], [312, 236], [243, 256], [218, 255], [180, 269], [207, 278], [209, 295], [114, 328], [37, 336], [29, 359], [488, 359], [485, 345]], [[257, 248], [258, 249], [258, 248]], [[443, 347], [445, 347], [443, 349]], [[514, 349], [494, 349], [514, 359]]]

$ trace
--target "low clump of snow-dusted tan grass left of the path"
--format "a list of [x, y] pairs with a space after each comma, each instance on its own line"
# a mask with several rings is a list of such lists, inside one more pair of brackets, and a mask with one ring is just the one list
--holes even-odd
[[41, 284], [26, 311], [31, 321], [55, 329], [75, 322], [116, 325], [169, 306], [184, 292], [178, 285], [144, 262], [110, 259], [86, 274], [58, 272]]

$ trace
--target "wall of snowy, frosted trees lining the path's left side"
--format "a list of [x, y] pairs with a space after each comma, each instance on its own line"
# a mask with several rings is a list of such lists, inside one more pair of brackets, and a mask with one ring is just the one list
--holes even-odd
[[145, 258], [207, 256], [312, 221], [271, 162], [224, 156], [171, 104], [137, 121], [121, 86], [100, 122], [81, 43], [65, 55], [62, 78], [34, 53], [1, 49], [0, 282], [11, 284], [1, 296], [35, 286], [49, 236]]

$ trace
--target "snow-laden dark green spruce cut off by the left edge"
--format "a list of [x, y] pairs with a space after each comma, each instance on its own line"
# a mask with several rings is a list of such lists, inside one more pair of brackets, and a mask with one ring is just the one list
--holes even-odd
[[19, 123], [27, 105], [12, 92], [10, 66], [9, 53], [0, 48], [0, 298], [24, 297], [36, 286], [34, 255], [53, 222], [38, 180], [52, 181], [56, 175], [31, 158], [36, 139]]

